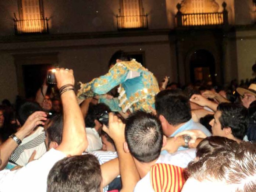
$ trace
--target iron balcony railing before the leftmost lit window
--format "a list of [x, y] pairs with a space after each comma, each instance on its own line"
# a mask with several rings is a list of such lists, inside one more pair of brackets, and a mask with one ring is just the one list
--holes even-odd
[[48, 20], [44, 19], [31, 19], [31, 20], [18, 20], [14, 21], [14, 32], [15, 35], [26, 34], [26, 33], [49, 33]]

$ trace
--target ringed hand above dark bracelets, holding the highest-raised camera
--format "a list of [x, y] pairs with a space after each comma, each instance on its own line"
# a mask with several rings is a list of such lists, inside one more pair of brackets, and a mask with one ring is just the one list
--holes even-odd
[[57, 87], [60, 89], [62, 86], [71, 84], [74, 86], [75, 79], [73, 70], [67, 70], [64, 68], [56, 68], [55, 72], [56, 80], [57, 80]]

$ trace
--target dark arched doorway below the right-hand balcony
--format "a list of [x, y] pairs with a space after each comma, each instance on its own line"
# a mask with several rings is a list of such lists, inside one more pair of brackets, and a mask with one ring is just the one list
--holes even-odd
[[190, 80], [215, 83], [215, 59], [213, 54], [205, 49], [196, 50], [190, 57]]

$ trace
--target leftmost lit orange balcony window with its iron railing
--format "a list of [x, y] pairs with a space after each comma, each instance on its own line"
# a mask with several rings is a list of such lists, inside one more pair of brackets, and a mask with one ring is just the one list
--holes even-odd
[[48, 32], [42, 0], [18, 0], [18, 5], [20, 19], [14, 16], [15, 34]]

